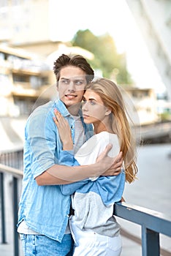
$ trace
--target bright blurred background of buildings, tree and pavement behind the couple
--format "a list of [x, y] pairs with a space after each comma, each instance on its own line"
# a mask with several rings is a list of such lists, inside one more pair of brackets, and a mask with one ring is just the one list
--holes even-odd
[[[171, 1], [1, 0], [0, 157], [23, 148], [28, 115], [57, 97], [53, 62], [83, 55], [96, 76], [121, 86], [137, 128], [139, 173], [126, 184], [126, 202], [170, 215], [170, 45]], [[119, 221], [122, 255], [141, 255], [126, 236], [140, 238], [139, 228]], [[170, 255], [170, 238], [161, 236], [161, 246]]]

